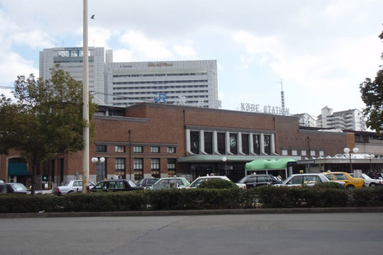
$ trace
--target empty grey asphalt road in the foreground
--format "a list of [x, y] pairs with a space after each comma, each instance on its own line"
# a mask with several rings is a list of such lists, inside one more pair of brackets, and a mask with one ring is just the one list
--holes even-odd
[[0, 254], [383, 254], [383, 213], [0, 218]]

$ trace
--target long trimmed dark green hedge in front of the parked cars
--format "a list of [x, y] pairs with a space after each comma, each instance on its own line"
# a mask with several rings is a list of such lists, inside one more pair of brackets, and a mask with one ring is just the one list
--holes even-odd
[[0, 195], [0, 213], [211, 210], [236, 208], [328, 208], [383, 206], [383, 187], [339, 186], [194, 188], [116, 193]]

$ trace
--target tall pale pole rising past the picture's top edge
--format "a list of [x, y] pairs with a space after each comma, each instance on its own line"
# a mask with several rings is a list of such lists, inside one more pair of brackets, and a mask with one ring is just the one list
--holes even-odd
[[82, 130], [84, 148], [82, 149], [82, 193], [89, 191], [89, 62], [88, 62], [88, 0], [83, 7], [83, 47], [82, 64], [82, 119], [86, 123]]

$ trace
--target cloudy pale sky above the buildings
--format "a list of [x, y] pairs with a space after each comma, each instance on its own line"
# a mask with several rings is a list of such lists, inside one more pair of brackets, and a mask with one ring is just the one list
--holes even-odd
[[[0, 0], [0, 94], [38, 77], [39, 52], [82, 46], [81, 0]], [[89, 0], [89, 46], [114, 62], [217, 60], [222, 108], [317, 116], [358, 108], [383, 42], [382, 0]], [[281, 84], [282, 82], [282, 84]]]

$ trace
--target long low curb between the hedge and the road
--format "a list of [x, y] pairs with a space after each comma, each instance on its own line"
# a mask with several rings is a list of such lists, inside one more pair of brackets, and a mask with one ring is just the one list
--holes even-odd
[[4, 213], [0, 218], [44, 218], [44, 217], [136, 217], [136, 216], [182, 216], [182, 215], [259, 215], [290, 213], [345, 213], [383, 212], [383, 207], [373, 208], [270, 208], [270, 209], [226, 209], [226, 210], [163, 210], [126, 212], [42, 212]]

